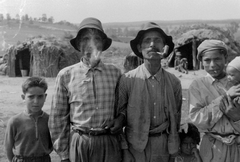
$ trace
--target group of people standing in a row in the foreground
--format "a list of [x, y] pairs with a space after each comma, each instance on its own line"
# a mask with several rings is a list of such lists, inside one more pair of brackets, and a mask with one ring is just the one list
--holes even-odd
[[[98, 19], [84, 19], [70, 43], [83, 56], [57, 75], [50, 115], [42, 110], [46, 81], [30, 77], [23, 83], [26, 110], [10, 118], [6, 129], [9, 161], [48, 162], [53, 149], [61, 162], [240, 160], [239, 57], [226, 74], [222, 41], [205, 40], [198, 47], [208, 75], [190, 85], [191, 123], [181, 132], [181, 82], [161, 67], [174, 43], [158, 24], [147, 23], [130, 41], [144, 63], [124, 74], [101, 61], [112, 40]], [[198, 130], [204, 133], [201, 142]]]

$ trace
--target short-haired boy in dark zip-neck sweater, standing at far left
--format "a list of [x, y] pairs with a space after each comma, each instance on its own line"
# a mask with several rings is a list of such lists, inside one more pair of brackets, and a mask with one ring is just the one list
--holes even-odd
[[46, 81], [39, 77], [30, 77], [22, 84], [26, 109], [9, 119], [5, 133], [9, 162], [51, 162], [49, 115], [42, 111], [47, 88]]

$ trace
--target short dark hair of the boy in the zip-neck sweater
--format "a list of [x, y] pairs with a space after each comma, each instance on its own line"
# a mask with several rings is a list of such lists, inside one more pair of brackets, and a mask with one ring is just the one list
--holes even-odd
[[47, 91], [48, 85], [45, 79], [40, 77], [30, 77], [28, 78], [23, 84], [22, 84], [22, 91], [25, 94], [29, 88], [32, 87], [40, 87], [44, 90], [44, 92]]

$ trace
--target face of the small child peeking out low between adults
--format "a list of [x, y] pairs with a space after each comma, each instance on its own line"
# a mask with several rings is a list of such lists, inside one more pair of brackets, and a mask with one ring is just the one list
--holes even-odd
[[191, 155], [192, 149], [196, 147], [197, 147], [197, 144], [191, 137], [186, 137], [181, 143], [182, 153], [186, 155]]

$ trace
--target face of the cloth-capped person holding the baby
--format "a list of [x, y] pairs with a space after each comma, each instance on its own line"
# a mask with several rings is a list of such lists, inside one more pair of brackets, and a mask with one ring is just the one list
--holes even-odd
[[202, 57], [202, 64], [207, 73], [215, 79], [225, 76], [226, 57], [219, 50], [206, 52]]

